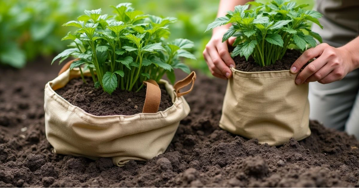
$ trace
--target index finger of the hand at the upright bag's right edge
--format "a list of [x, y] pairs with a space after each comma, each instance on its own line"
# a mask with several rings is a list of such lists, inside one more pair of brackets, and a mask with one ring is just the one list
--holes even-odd
[[[290, 72], [297, 73], [302, 67], [311, 59], [320, 56], [324, 49], [329, 47], [328, 44], [322, 43], [317, 45], [315, 48], [307, 49], [292, 65]], [[304, 80], [302, 80], [304, 82]]]

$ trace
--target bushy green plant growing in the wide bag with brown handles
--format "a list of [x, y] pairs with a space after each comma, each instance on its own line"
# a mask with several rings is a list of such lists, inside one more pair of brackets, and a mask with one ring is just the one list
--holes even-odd
[[160, 18], [145, 15], [131, 7], [131, 3], [112, 6], [114, 15], [101, 14], [101, 9], [85, 10], [78, 20], [64, 26], [75, 26], [74, 34], [68, 33], [62, 40], [72, 40], [69, 47], [56, 59], [60, 63], [69, 56], [79, 58], [70, 69], [89, 69], [95, 87], [102, 87], [111, 94], [117, 87], [121, 90], [139, 91], [146, 79], [159, 81], [164, 74], [173, 83], [173, 69], [190, 73], [180, 58], [196, 59], [186, 49], [194, 46], [187, 39], [167, 42], [168, 25], [176, 18]]

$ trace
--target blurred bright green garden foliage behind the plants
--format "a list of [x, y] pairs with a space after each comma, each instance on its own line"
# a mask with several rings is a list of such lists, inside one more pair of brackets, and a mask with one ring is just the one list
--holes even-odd
[[[313, 0], [293, 1], [309, 4], [307, 9], [313, 8]], [[109, 5], [124, 2], [132, 3], [135, 9], [145, 14], [178, 18], [170, 28], [170, 39], [194, 41], [192, 53], [197, 60], [186, 60], [185, 63], [209, 73], [202, 51], [211, 32], [204, 31], [216, 17], [219, 0], [0, 0], [0, 64], [23, 68], [38, 57], [54, 56], [68, 44], [61, 38], [74, 29], [62, 27], [62, 24], [75, 20], [85, 9], [101, 8], [103, 14], [111, 14]]]

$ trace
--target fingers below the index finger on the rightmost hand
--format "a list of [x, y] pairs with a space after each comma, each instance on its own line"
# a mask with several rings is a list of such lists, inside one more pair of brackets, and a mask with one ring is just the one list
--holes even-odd
[[[305, 81], [307, 81], [307, 79], [309, 77], [311, 77], [312, 75], [313, 75], [313, 77], [311, 78], [312, 80], [315, 77], [318, 77], [320, 79], [324, 78], [323, 76], [327, 76], [332, 71], [332, 69], [328, 70], [329, 66], [326, 69], [322, 69], [326, 63], [327, 63], [326, 57], [324, 57], [324, 56], [318, 57], [313, 62], [309, 63], [303, 69], [303, 71], [298, 74], [297, 78], [295, 79], [295, 83], [302, 84]], [[325, 72], [323, 72], [323, 71], [325, 71]], [[326, 71], [328, 71], [328, 72], [326, 72]], [[320, 80], [320, 79], [317, 79], [317, 80]], [[317, 81], [317, 80], [314, 80], [314, 81]]]

